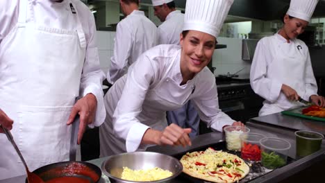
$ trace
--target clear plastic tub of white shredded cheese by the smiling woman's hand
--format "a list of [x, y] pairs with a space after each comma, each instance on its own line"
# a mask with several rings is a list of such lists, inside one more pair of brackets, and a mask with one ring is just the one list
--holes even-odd
[[244, 137], [249, 131], [249, 128], [243, 126], [227, 126], [224, 128], [226, 134], [226, 148], [228, 150], [240, 151], [242, 148], [240, 135], [242, 134]]

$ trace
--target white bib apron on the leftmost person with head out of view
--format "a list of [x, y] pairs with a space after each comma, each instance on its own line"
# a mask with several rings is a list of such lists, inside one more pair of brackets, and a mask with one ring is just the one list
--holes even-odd
[[[33, 171], [69, 159], [66, 123], [79, 94], [86, 41], [78, 12], [76, 30], [49, 28], [26, 22], [31, 3], [20, 1], [18, 23], [0, 45], [0, 107], [13, 119], [12, 136]], [[4, 134], [0, 144], [0, 180], [25, 174]]]

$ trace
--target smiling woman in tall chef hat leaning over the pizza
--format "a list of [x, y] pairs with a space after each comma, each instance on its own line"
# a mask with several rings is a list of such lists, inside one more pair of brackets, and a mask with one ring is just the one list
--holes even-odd
[[101, 157], [144, 150], [148, 144], [188, 146], [190, 128], [171, 124], [166, 111], [189, 100], [214, 130], [243, 125], [219, 110], [211, 61], [220, 28], [233, 0], [188, 0], [181, 46], [159, 45], [143, 53], [128, 75], [104, 98], [106, 121], [100, 127]]

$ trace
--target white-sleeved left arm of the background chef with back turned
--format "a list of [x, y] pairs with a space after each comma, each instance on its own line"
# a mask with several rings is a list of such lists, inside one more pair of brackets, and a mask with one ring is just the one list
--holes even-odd
[[128, 58], [133, 46], [131, 28], [125, 22], [117, 24], [114, 40], [114, 55], [110, 58], [110, 70], [107, 73], [108, 82], [113, 84], [124, 76], [128, 69]]

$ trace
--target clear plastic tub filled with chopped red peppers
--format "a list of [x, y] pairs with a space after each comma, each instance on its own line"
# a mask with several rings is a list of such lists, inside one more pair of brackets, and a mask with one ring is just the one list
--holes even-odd
[[241, 134], [242, 143], [241, 157], [242, 159], [258, 162], [260, 161], [260, 139], [265, 138], [264, 134], [251, 133]]

